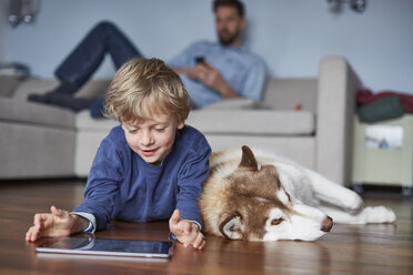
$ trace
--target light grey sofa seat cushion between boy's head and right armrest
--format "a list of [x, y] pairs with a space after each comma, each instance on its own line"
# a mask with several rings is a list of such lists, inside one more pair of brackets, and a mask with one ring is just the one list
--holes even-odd
[[314, 114], [308, 111], [200, 110], [187, 123], [205, 134], [309, 135], [315, 130]]

